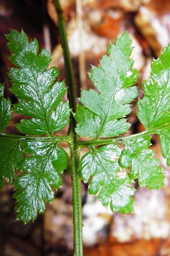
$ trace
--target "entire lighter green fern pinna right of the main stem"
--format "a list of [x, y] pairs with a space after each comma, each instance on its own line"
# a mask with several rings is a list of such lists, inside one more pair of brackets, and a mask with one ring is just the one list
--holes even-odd
[[[86, 182], [90, 180], [90, 193], [98, 193], [103, 205], [110, 205], [113, 211], [122, 213], [133, 210], [131, 196], [134, 189], [130, 183], [134, 180], [138, 179], [141, 187], [150, 189], [159, 189], [164, 185], [160, 160], [154, 158], [154, 151], [149, 148], [149, 135], [152, 133], [159, 134], [163, 156], [168, 158], [170, 164], [169, 46], [152, 63], [151, 77], [143, 84], [145, 96], [138, 101], [138, 118], [145, 125], [147, 135], [121, 136], [113, 138], [114, 142], [112, 139], [100, 139], [122, 135], [130, 126], [125, 117], [131, 111], [129, 103], [138, 96], [137, 88], [131, 86], [136, 82], [138, 73], [131, 71], [130, 45], [127, 32], [117, 37], [115, 45], [109, 44], [109, 56], [103, 56], [100, 66], [92, 67], [90, 74], [99, 93], [92, 89], [83, 91], [79, 98], [81, 105], [75, 114], [78, 121], [76, 132], [83, 137], [94, 137], [89, 141], [90, 152], [80, 161], [82, 179]], [[100, 148], [93, 146], [95, 142], [97, 146], [109, 141], [120, 141], [124, 148], [120, 150], [113, 144]], [[109, 151], [108, 148], [114, 149]], [[121, 152], [118, 153], [118, 150]]]

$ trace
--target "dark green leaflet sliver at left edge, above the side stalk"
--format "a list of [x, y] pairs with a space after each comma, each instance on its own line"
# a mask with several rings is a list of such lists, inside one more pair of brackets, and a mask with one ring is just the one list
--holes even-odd
[[0, 84], [0, 133], [5, 129], [12, 117], [11, 101], [3, 98], [4, 85]]

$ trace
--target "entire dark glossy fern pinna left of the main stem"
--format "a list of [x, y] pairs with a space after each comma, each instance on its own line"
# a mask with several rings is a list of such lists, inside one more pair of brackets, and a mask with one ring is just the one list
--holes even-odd
[[[48, 135], [41, 141], [34, 137], [3, 137], [0, 146], [0, 187], [7, 179], [14, 181], [17, 218], [23, 222], [35, 220], [38, 213], [45, 210], [45, 203], [54, 197], [53, 189], [62, 184], [61, 174], [67, 166], [65, 150], [57, 146], [53, 134], [69, 123], [71, 110], [68, 102], [62, 102], [66, 92], [64, 82], [56, 81], [58, 69], [48, 67], [51, 56], [34, 39], [28, 42], [23, 30], [11, 30], [6, 35], [7, 46], [11, 51], [9, 59], [17, 68], [11, 68], [11, 92], [19, 98], [14, 111], [31, 117], [16, 124], [18, 130], [27, 135]], [[10, 121], [11, 103], [2, 98], [3, 85], [0, 86], [0, 131]], [[25, 158], [23, 158], [23, 153]], [[15, 177], [15, 170], [20, 175]]]

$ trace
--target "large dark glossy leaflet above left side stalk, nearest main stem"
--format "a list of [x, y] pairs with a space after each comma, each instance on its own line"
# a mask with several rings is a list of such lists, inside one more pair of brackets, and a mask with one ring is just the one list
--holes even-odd
[[71, 110], [67, 102], [62, 102], [66, 92], [64, 82], [56, 81], [59, 71], [48, 67], [51, 56], [34, 39], [28, 42], [27, 35], [11, 30], [6, 35], [7, 47], [11, 51], [10, 60], [18, 68], [11, 68], [9, 77], [12, 81], [11, 92], [19, 99], [14, 105], [16, 113], [28, 115], [16, 128], [23, 134], [50, 136], [69, 123]]

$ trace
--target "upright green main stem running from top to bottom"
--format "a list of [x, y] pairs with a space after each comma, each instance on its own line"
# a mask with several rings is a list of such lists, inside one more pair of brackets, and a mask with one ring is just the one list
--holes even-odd
[[[76, 89], [73, 77], [73, 67], [70, 58], [69, 46], [67, 43], [66, 28], [63, 13], [59, 0], [54, 1], [58, 15], [58, 29], [63, 48], [63, 57], [65, 60], [66, 80], [68, 86], [68, 98], [70, 108], [76, 112]], [[79, 163], [79, 136], [75, 133], [76, 121], [71, 114], [70, 117], [70, 154], [71, 154], [71, 176], [73, 182], [73, 222], [74, 222], [74, 255], [83, 256], [82, 246], [82, 199], [81, 199], [81, 180], [78, 173]]]

